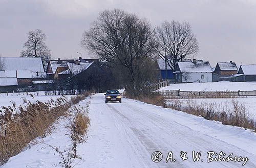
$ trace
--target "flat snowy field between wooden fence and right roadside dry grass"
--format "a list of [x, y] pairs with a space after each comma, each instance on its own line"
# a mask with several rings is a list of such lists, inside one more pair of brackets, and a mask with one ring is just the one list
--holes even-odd
[[247, 112], [249, 113], [249, 117], [254, 119], [256, 121], [256, 98], [238, 98], [238, 99], [179, 99], [181, 102], [181, 105], [186, 106], [187, 101], [190, 102], [190, 104], [194, 104], [195, 106], [200, 106], [201, 104], [211, 103], [215, 104], [215, 110], [225, 110], [227, 112], [227, 109], [232, 109], [232, 100], [238, 101], [242, 105], [245, 106], [247, 109]]

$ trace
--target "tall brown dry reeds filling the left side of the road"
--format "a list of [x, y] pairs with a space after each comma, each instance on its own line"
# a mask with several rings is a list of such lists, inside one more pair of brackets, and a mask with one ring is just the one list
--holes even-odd
[[[33, 95], [31, 95], [33, 97]], [[11, 156], [22, 152], [36, 137], [44, 137], [55, 120], [67, 114], [68, 109], [83, 100], [86, 95], [75, 96], [71, 101], [65, 97], [48, 103], [36, 101], [31, 103], [23, 98], [23, 104], [16, 107], [2, 107], [0, 115], [0, 165]]]

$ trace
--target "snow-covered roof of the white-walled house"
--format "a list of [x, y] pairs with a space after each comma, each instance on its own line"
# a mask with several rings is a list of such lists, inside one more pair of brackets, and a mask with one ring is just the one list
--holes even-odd
[[[207, 62], [177, 62], [182, 73], [211, 73], [210, 63]], [[178, 73], [178, 69], [175, 69]]]

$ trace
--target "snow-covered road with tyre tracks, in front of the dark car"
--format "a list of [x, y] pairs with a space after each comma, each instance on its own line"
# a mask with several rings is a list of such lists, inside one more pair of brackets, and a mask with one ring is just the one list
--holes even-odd
[[[87, 143], [78, 148], [84, 159], [78, 167], [256, 167], [255, 133], [129, 99], [105, 104], [103, 97], [92, 97], [91, 127]], [[158, 163], [152, 161], [155, 151], [163, 155]], [[165, 162], [169, 151], [175, 162]], [[181, 151], [187, 160], [181, 161]], [[202, 152], [199, 161], [193, 161], [193, 151]], [[209, 151], [249, 161], [208, 163]]]

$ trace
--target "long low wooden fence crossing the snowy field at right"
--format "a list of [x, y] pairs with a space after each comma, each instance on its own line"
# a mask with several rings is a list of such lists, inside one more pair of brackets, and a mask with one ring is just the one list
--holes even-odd
[[256, 96], [256, 90], [253, 91], [180, 91], [180, 90], [162, 90], [158, 91], [164, 97], [174, 98], [236, 98]]

